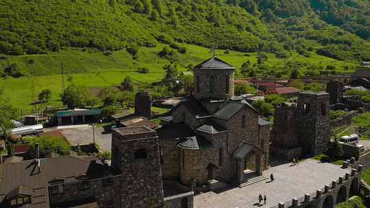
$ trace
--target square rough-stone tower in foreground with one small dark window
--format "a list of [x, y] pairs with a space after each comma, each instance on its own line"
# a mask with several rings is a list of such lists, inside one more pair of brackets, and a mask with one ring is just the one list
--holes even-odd
[[164, 196], [156, 131], [126, 127], [112, 132], [112, 166], [121, 170], [121, 207], [162, 208]]

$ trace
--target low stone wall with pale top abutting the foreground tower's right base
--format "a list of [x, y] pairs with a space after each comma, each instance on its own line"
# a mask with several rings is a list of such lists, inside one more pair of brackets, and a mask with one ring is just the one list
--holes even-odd
[[164, 208], [193, 208], [194, 192], [164, 198]]

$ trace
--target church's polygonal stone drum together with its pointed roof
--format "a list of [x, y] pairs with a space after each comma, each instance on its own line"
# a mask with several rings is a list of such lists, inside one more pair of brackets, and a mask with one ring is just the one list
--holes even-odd
[[235, 67], [212, 57], [194, 67], [195, 99], [226, 100], [234, 96]]

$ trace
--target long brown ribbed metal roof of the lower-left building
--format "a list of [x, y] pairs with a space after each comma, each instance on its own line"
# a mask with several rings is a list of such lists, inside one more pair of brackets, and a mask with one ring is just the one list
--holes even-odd
[[2, 164], [0, 165], [0, 207], [3, 199], [20, 185], [33, 191], [32, 203], [23, 205], [23, 208], [48, 208], [49, 181], [55, 179], [75, 181], [81, 175], [86, 175], [88, 179], [95, 179], [119, 174], [117, 170], [107, 166], [73, 156], [40, 159], [40, 170], [34, 160]]

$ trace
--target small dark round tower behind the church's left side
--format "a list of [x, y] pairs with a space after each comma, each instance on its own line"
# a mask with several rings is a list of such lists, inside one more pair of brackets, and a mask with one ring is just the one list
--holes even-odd
[[136, 93], [135, 114], [138, 116], [144, 116], [148, 119], [151, 117], [151, 99], [148, 92]]

